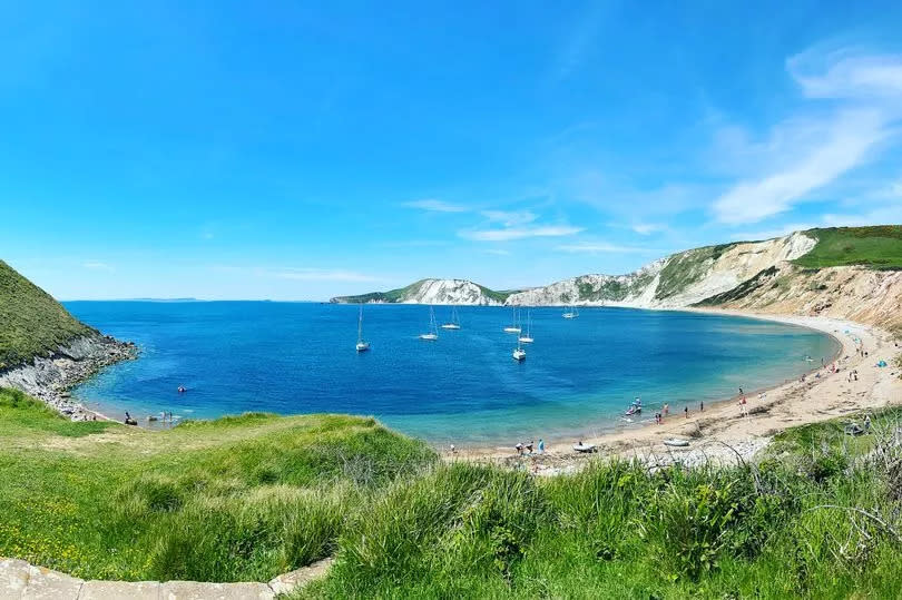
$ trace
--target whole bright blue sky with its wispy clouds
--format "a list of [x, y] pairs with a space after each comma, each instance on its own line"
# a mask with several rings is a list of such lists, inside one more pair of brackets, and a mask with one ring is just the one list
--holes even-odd
[[0, 257], [324, 299], [902, 222], [902, 3], [675, 4], [7, 2]]

